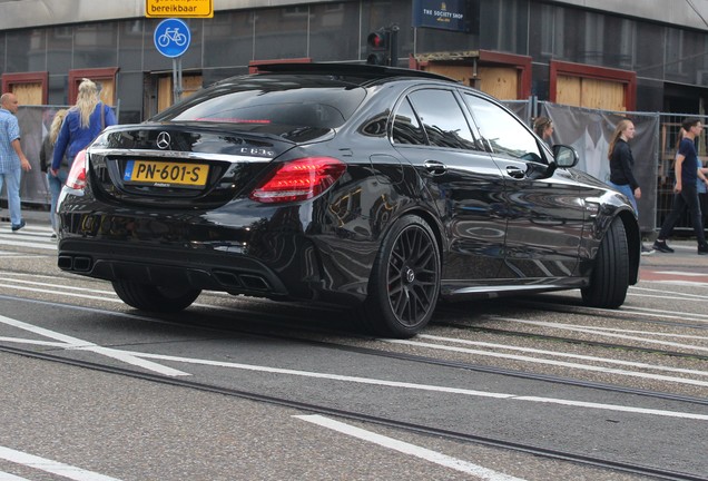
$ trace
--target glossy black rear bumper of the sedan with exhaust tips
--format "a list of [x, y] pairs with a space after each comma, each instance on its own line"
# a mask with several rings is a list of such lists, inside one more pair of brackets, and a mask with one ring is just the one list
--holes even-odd
[[[267, 217], [236, 226], [210, 214], [62, 210], [58, 266], [106, 281], [274, 300], [361, 302], [368, 268], [342, 268], [346, 256], [332, 245], [336, 235], [308, 236], [293, 214], [297, 212], [281, 210], [274, 229]], [[291, 220], [284, 222], [284, 215]]]

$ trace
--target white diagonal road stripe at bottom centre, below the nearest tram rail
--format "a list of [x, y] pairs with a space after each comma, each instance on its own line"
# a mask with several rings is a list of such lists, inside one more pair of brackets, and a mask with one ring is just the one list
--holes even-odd
[[372, 431], [366, 431], [361, 428], [353, 426], [351, 424], [345, 424], [340, 421], [335, 421], [318, 414], [312, 415], [295, 415], [293, 418], [307, 421], [313, 424], [317, 424], [319, 426], [341, 432], [342, 434], [346, 434], [362, 441], [371, 442], [374, 444], [378, 444], [380, 446], [399, 451], [403, 454], [413, 455], [425, 461], [430, 461], [435, 464], [443, 465], [445, 468], [451, 468], [455, 471], [461, 471], [466, 474], [472, 474], [479, 477], [483, 480], [488, 481], [523, 481], [522, 478], [514, 478], [509, 474], [503, 474], [498, 471], [493, 471], [488, 468], [483, 468], [478, 464], [473, 464], [468, 461], [463, 461], [456, 458], [452, 458], [436, 451], [432, 451], [425, 448], [417, 446], [415, 444], [411, 444], [404, 441], [399, 441], [393, 438], [389, 438], [382, 434], [376, 434]]

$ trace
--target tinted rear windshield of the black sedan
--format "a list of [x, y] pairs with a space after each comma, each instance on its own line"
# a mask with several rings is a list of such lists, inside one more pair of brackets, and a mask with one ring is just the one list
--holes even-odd
[[243, 77], [200, 90], [153, 120], [330, 129], [343, 125], [365, 95], [362, 87], [322, 78]]

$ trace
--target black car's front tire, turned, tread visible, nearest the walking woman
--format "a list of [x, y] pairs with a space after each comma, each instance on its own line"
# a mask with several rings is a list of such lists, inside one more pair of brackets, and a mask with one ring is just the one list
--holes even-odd
[[582, 301], [591, 307], [617, 308], [629, 288], [629, 247], [625, 224], [612, 220], [600, 243], [590, 275], [590, 285], [581, 289]]

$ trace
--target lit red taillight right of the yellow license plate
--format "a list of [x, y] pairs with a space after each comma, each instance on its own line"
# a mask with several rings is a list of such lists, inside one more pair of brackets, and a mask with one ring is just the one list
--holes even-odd
[[307, 157], [283, 164], [250, 198], [260, 203], [287, 203], [313, 198], [325, 192], [346, 170], [332, 157]]

